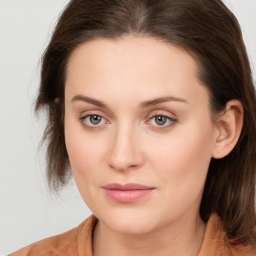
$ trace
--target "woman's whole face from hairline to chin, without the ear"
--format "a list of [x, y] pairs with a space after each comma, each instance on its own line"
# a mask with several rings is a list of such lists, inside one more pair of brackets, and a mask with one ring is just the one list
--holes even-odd
[[112, 230], [199, 216], [216, 131], [196, 71], [186, 51], [146, 37], [96, 39], [73, 52], [66, 149], [83, 200]]

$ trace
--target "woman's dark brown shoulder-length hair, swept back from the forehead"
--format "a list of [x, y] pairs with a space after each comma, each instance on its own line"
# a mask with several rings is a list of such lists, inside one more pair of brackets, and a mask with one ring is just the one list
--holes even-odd
[[200, 216], [207, 221], [211, 212], [217, 212], [232, 241], [255, 239], [255, 89], [239, 24], [221, 0], [71, 0], [67, 4], [42, 57], [35, 104], [36, 111], [48, 112], [43, 141], [49, 186], [57, 190], [70, 176], [63, 125], [70, 54], [93, 38], [129, 34], [154, 37], [189, 51], [209, 90], [213, 115], [230, 99], [242, 102], [240, 138], [226, 157], [211, 159]]

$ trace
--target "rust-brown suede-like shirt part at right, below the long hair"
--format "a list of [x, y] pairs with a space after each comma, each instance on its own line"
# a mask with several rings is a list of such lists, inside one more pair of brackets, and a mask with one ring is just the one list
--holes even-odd
[[220, 217], [212, 213], [204, 233], [198, 256], [256, 256], [255, 244], [229, 242]]

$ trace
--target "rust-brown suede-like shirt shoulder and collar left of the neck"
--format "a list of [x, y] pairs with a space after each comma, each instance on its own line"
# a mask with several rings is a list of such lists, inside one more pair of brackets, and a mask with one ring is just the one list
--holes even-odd
[[77, 227], [34, 242], [9, 256], [76, 256], [80, 255], [79, 250], [86, 250], [87, 255], [90, 255], [91, 235], [96, 222], [96, 217], [91, 215]]

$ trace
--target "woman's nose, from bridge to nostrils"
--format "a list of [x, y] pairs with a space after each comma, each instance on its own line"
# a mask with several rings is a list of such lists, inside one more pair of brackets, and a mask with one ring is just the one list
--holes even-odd
[[144, 157], [141, 147], [141, 137], [132, 127], [122, 125], [117, 127], [109, 137], [108, 164], [116, 170], [138, 169], [143, 165]]

